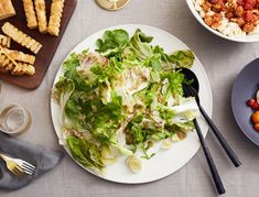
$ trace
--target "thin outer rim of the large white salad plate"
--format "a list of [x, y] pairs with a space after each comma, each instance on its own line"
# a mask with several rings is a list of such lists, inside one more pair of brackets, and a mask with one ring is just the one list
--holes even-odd
[[[162, 30], [162, 29], [160, 29], [160, 28], [155, 28], [155, 26], [151, 26], [151, 25], [145, 25], [145, 24], [139, 24], [139, 23], [127, 23], [127, 24], [118, 24], [118, 25], [112, 25], [112, 26], [104, 28], [104, 29], [100, 29], [100, 30], [98, 30], [98, 31], [96, 31], [96, 32], [94, 32], [94, 33], [87, 35], [85, 39], [83, 39], [80, 42], [78, 42], [78, 43], [69, 51], [69, 53], [64, 57], [63, 62], [61, 63], [61, 65], [60, 65], [57, 72], [56, 72], [56, 75], [55, 75], [55, 77], [54, 77], [53, 85], [52, 85], [51, 88], [53, 89], [57, 77], [60, 77], [60, 76], [58, 76], [58, 73], [60, 73], [61, 69], [62, 69], [63, 63], [67, 59], [67, 57], [68, 57], [73, 52], [76, 52], [77, 47], [78, 47], [82, 43], [86, 42], [89, 37], [96, 35], [96, 34], [104, 33], [104, 32], [107, 31], [107, 30], [123, 29], [123, 28], [125, 28], [125, 29], [127, 29], [127, 28], [130, 29], [130, 28], [132, 28], [132, 26], [133, 26], [134, 29], [142, 29], [142, 28], [145, 28], [145, 29], [151, 29], [151, 30], [154, 30], [154, 31], [159, 31], [159, 32], [165, 33], [165, 34], [168, 34], [168, 35], [170, 35], [170, 36], [173, 36], [174, 39], [176, 39], [177, 41], [180, 41], [181, 44], [183, 44], [185, 47], [187, 47], [187, 48], [191, 50], [191, 47], [188, 47], [188, 46], [187, 46], [182, 40], [180, 40], [177, 36], [173, 35], [173, 34], [171, 34], [171, 33], [169, 33], [169, 32], [166, 32], [166, 31], [164, 31], [164, 30]], [[193, 52], [194, 52], [194, 51], [193, 51]], [[194, 53], [194, 54], [195, 54], [195, 53]], [[195, 55], [195, 61], [197, 61], [197, 64], [199, 64], [198, 68], [199, 68], [199, 69], [202, 70], [202, 73], [204, 74], [204, 79], [206, 80], [206, 86], [207, 86], [207, 88], [208, 88], [208, 102], [209, 102], [208, 105], [209, 105], [209, 110], [211, 110], [211, 111], [208, 112], [208, 116], [212, 117], [212, 114], [213, 114], [213, 94], [212, 94], [211, 83], [209, 83], [209, 79], [208, 79], [208, 76], [207, 76], [207, 73], [206, 73], [204, 66], [202, 65], [201, 61], [198, 59], [198, 57], [197, 57], [196, 55]], [[51, 107], [51, 118], [52, 118], [52, 122], [53, 122], [53, 127], [54, 127], [54, 132], [55, 132], [55, 134], [56, 134], [56, 136], [57, 136], [57, 139], [58, 139], [58, 133], [57, 133], [57, 131], [56, 131], [56, 125], [55, 125], [54, 120], [53, 120], [53, 118], [54, 118], [54, 117], [53, 117], [53, 105], [54, 105], [54, 101], [53, 101], [53, 98], [51, 97], [51, 105], [50, 105], [50, 107]], [[203, 131], [204, 138], [206, 138], [207, 132], [208, 132], [208, 128], [206, 127], [206, 130]], [[58, 140], [60, 140], [60, 139], [58, 139]], [[58, 143], [58, 144], [60, 144], [60, 143]], [[106, 178], [105, 176], [95, 173], [95, 172], [91, 171], [90, 168], [87, 168], [87, 167], [83, 166], [82, 164], [79, 164], [77, 161], [75, 161], [75, 160], [73, 158], [73, 156], [72, 156], [71, 151], [68, 150], [68, 147], [66, 147], [65, 145], [62, 145], [62, 144], [60, 144], [60, 145], [63, 146], [63, 149], [65, 149], [66, 153], [69, 155], [69, 157], [72, 158], [73, 162], [77, 163], [80, 167], [83, 167], [83, 169], [87, 171], [88, 173], [95, 175], [95, 176], [98, 177], [98, 178], [102, 178], [102, 179], [108, 180], [108, 182], [119, 183], [119, 184], [129, 184], [129, 185], [152, 183], [152, 182], [155, 182], [155, 180], [159, 180], [159, 179], [162, 179], [162, 178], [165, 178], [165, 177], [172, 175], [173, 173], [177, 172], [180, 168], [182, 168], [183, 166], [185, 166], [185, 165], [193, 158], [193, 156], [197, 153], [197, 151], [198, 151], [199, 147], [201, 147], [201, 144], [198, 144], [198, 146], [196, 147], [196, 150], [193, 152], [193, 154], [187, 158], [187, 161], [186, 161], [183, 165], [181, 165], [180, 167], [176, 167], [176, 169], [175, 169], [174, 172], [171, 172], [170, 174], [168, 174], [168, 175], [165, 175], [165, 176], [162, 176], [162, 177], [159, 177], [159, 178], [153, 178], [153, 179], [150, 179], [150, 180], [144, 180], [144, 182], [121, 182], [121, 180], [108, 179], [108, 178]]]

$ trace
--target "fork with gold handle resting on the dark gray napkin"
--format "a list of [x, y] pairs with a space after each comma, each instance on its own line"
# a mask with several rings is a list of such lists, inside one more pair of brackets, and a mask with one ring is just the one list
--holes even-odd
[[0, 157], [6, 162], [7, 168], [15, 176], [33, 175], [35, 166], [20, 158], [12, 158], [3, 153]]

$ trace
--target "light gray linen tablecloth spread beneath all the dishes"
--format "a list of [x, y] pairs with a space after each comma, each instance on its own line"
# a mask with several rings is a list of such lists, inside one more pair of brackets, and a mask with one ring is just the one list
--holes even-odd
[[[218, 144], [207, 135], [209, 149], [222, 174], [227, 194], [224, 196], [256, 197], [259, 183], [259, 147], [238, 129], [230, 108], [230, 91], [241, 68], [259, 56], [259, 43], [238, 44], [222, 40], [199, 25], [184, 0], [132, 0], [127, 8], [108, 12], [94, 0], [78, 0], [51, 67], [39, 89], [29, 91], [2, 83], [0, 102], [19, 102], [33, 117], [32, 128], [19, 136], [33, 143], [57, 149], [57, 139], [50, 114], [50, 96], [54, 76], [64, 57], [83, 39], [107, 26], [141, 23], [163, 29], [185, 42], [199, 57], [211, 80], [214, 96], [213, 119], [242, 162], [235, 168]], [[97, 178], [83, 171], [66, 156], [51, 173], [28, 187], [4, 197], [132, 197], [216, 196], [202, 150], [173, 175], [144, 185], [121, 185]]]

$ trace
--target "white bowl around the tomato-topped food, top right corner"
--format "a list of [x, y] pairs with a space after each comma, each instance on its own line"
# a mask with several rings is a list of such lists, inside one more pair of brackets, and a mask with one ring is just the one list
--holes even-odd
[[251, 43], [251, 42], [259, 42], [259, 33], [258, 34], [253, 34], [253, 35], [245, 35], [245, 36], [239, 36], [239, 37], [230, 37], [227, 35], [222, 34], [220, 32], [212, 29], [211, 26], [208, 26], [204, 20], [202, 19], [202, 17], [199, 15], [199, 13], [195, 10], [194, 8], [194, 0], [186, 0], [186, 3], [191, 10], [191, 12], [193, 13], [193, 15], [195, 17], [195, 19], [205, 28], [207, 29], [209, 32], [214, 33], [215, 35], [218, 35], [219, 37], [226, 39], [228, 41], [234, 41], [234, 42], [240, 42], [240, 43]]

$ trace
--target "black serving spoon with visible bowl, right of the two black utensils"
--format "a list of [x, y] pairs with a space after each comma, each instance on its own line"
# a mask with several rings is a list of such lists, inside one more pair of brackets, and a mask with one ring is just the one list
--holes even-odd
[[199, 102], [199, 97], [198, 97], [198, 89], [199, 89], [199, 85], [198, 85], [198, 79], [196, 77], [196, 75], [187, 68], [182, 68], [181, 73], [185, 75], [185, 78], [187, 80], [193, 80], [193, 83], [191, 85], [184, 85], [184, 89], [190, 91], [190, 95], [192, 95], [193, 97], [195, 97], [195, 100], [197, 102], [197, 106], [199, 108], [199, 111], [202, 112], [203, 117], [205, 118], [205, 120], [207, 121], [209, 128], [212, 129], [213, 133], [215, 134], [215, 136], [217, 138], [217, 140], [219, 141], [219, 143], [222, 144], [223, 149], [225, 150], [225, 152], [227, 153], [228, 157], [231, 160], [233, 164], [238, 167], [241, 165], [241, 162], [238, 160], [237, 155], [235, 154], [235, 152], [233, 151], [233, 149], [230, 147], [230, 145], [227, 143], [226, 139], [223, 136], [223, 134], [220, 133], [220, 131], [217, 129], [217, 127], [215, 125], [215, 123], [213, 122], [213, 120], [208, 117], [208, 114], [206, 113], [206, 111], [203, 109], [203, 107], [201, 106]]

